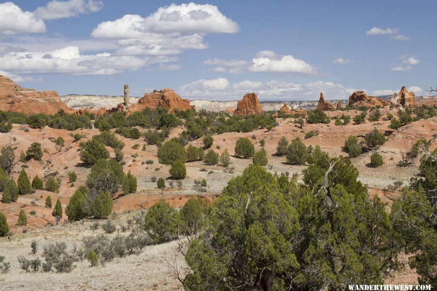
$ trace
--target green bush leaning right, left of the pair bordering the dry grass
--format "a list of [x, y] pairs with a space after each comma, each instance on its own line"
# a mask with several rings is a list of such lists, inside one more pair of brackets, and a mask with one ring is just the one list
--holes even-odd
[[89, 190], [85, 186], [81, 186], [71, 195], [68, 205], [65, 208], [65, 214], [67, 214], [69, 220], [81, 220], [89, 215], [89, 205]]

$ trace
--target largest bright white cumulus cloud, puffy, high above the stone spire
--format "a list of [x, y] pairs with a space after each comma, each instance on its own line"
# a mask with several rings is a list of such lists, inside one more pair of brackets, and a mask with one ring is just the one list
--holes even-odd
[[207, 34], [236, 33], [240, 28], [210, 4], [171, 4], [150, 16], [124, 15], [101, 22], [91, 33], [94, 38], [114, 39], [118, 55], [180, 54], [188, 49], [205, 49]]

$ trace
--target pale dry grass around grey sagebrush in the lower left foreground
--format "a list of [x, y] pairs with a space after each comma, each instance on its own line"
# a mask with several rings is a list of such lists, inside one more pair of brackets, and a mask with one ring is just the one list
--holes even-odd
[[[118, 215], [115, 224], [124, 223], [127, 217], [138, 214], [139, 211], [131, 214]], [[168, 261], [178, 260], [179, 265], [184, 266], [184, 259], [176, 251], [177, 244], [168, 242], [159, 245], [146, 247], [139, 255], [127, 255], [123, 258], [116, 257], [104, 266], [91, 267], [86, 260], [75, 262], [75, 268], [70, 273], [44, 273], [25, 272], [19, 267], [18, 256], [25, 256], [28, 259], [39, 257], [42, 261], [42, 247], [48, 242], [66, 242], [71, 250], [74, 243], [82, 246], [81, 239], [93, 232], [89, 226], [95, 220], [86, 220], [52, 226], [36, 230], [26, 234], [19, 234], [12, 237], [9, 242], [7, 238], [0, 239], [0, 255], [6, 257], [11, 263], [11, 270], [7, 274], [0, 274], [1, 290], [179, 290], [177, 280], [168, 275]], [[102, 221], [100, 221], [102, 223]], [[118, 227], [119, 229], [119, 227]], [[95, 234], [104, 233], [99, 228]], [[129, 234], [126, 233], [119, 234]], [[117, 232], [109, 235], [113, 237]], [[31, 254], [30, 244], [32, 240], [38, 242], [36, 255]]]

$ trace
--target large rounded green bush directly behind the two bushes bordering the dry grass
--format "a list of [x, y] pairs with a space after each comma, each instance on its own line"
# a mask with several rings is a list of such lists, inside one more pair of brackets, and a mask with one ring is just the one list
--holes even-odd
[[91, 190], [107, 191], [113, 196], [123, 186], [125, 178], [123, 167], [117, 161], [100, 159], [91, 167], [86, 186]]

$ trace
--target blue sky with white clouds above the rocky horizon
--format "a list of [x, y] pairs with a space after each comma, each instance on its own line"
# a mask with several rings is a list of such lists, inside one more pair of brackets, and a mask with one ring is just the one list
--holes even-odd
[[0, 2], [0, 74], [60, 95], [346, 99], [437, 85], [437, 1]]

